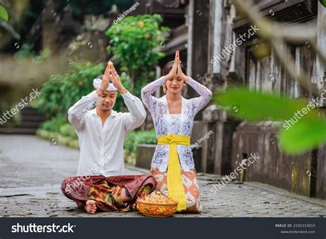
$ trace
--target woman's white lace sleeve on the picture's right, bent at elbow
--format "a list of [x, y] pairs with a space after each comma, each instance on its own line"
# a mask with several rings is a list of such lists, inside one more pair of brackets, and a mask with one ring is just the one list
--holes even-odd
[[189, 81], [186, 81], [186, 83], [193, 87], [193, 90], [195, 90], [200, 95], [199, 97], [191, 99], [195, 115], [199, 112], [199, 110], [202, 110], [202, 108], [204, 108], [209, 103], [210, 98], [212, 98], [212, 92], [208, 89], [208, 87], [193, 80], [191, 77], [189, 77]]

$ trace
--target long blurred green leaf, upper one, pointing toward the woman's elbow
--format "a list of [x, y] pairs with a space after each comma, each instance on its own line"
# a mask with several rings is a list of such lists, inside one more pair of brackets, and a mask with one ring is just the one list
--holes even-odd
[[266, 92], [251, 92], [246, 88], [234, 87], [226, 92], [215, 94], [215, 104], [226, 106], [226, 110], [237, 118], [248, 121], [264, 121], [266, 119], [283, 121], [291, 118], [298, 111], [307, 108], [305, 118], [316, 117], [313, 106], [294, 101], [284, 96]]

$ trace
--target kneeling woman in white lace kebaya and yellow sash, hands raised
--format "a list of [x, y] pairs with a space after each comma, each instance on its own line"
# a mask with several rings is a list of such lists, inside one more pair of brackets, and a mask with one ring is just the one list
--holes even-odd
[[[179, 54], [177, 51], [175, 60], [165, 65], [164, 76], [142, 88], [142, 101], [151, 112], [157, 136], [151, 174], [157, 180], [157, 190], [178, 200], [177, 211], [200, 213], [202, 205], [190, 137], [193, 119], [208, 104], [212, 92], [186, 76]], [[191, 85], [200, 97], [183, 98], [184, 83]], [[152, 94], [161, 85], [166, 95], [155, 98]]]

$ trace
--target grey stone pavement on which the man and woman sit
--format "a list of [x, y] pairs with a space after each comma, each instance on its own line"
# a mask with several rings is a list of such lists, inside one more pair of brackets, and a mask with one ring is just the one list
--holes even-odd
[[[137, 211], [100, 212], [76, 208], [61, 193], [63, 178], [76, 174], [79, 152], [36, 136], [0, 135], [1, 217], [142, 217]], [[127, 174], [145, 169], [127, 166]], [[325, 200], [311, 199], [259, 183], [229, 183], [213, 194], [221, 177], [198, 174], [202, 214], [175, 217], [325, 217]]]

